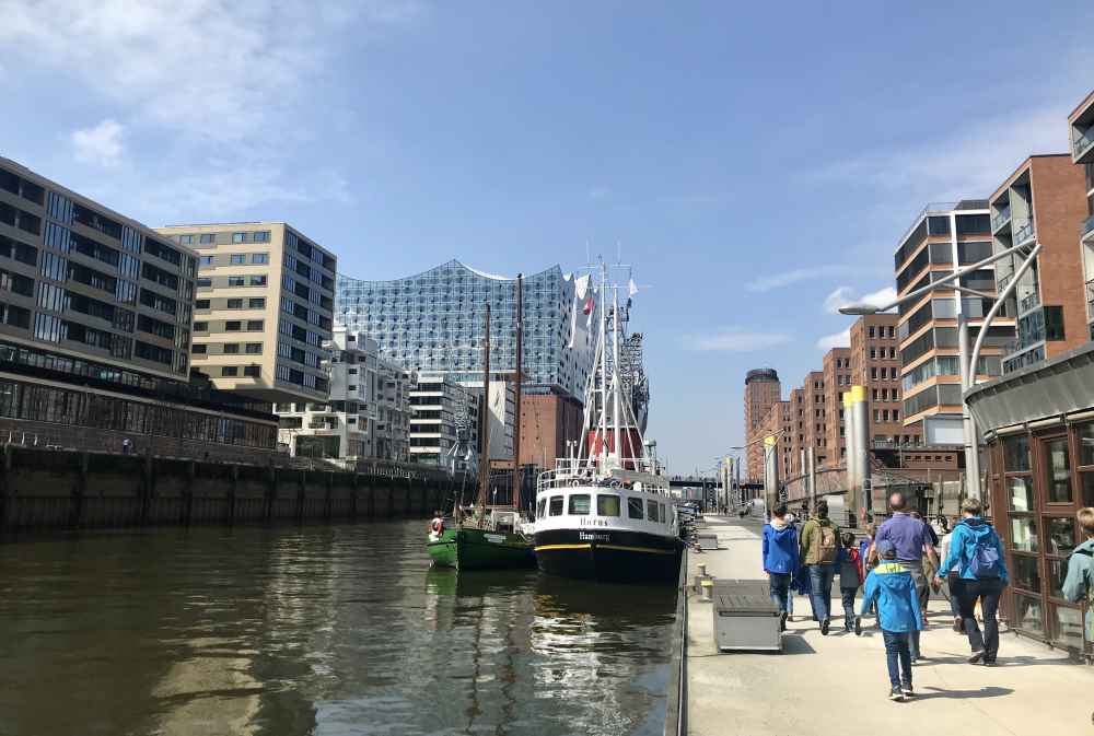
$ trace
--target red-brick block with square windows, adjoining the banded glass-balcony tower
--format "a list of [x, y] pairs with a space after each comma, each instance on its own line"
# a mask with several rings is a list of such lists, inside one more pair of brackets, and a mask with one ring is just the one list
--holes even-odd
[[901, 421], [898, 316], [863, 315], [851, 325], [851, 383], [865, 386], [870, 401], [868, 436], [874, 447], [921, 443], [921, 425]]

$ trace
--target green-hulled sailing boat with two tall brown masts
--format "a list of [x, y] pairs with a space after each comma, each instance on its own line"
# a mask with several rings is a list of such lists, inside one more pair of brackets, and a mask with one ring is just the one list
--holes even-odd
[[[521, 394], [521, 352], [523, 305], [521, 276], [516, 277], [516, 396]], [[519, 528], [520, 515], [516, 511], [490, 510], [487, 513], [487, 498], [490, 487], [490, 304], [486, 305], [486, 340], [482, 346], [482, 407], [479, 413], [479, 432], [482, 453], [479, 459], [479, 490], [475, 503], [475, 513], [470, 518], [459, 519], [452, 529], [445, 529], [435, 539], [427, 544], [429, 556], [434, 565], [459, 568], [462, 570], [490, 570], [503, 568], [534, 568], [536, 564], [533, 541], [524, 536]], [[517, 404], [517, 411], [520, 404]], [[516, 414], [516, 431], [514, 432], [514, 506], [519, 495], [515, 484], [520, 474], [520, 413]], [[461, 514], [456, 501], [456, 515]]]

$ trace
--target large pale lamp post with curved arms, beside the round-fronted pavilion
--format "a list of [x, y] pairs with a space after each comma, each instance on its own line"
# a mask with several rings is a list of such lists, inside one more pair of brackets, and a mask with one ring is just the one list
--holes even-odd
[[[951, 223], [951, 232], [953, 232], [953, 223]], [[1000, 260], [1006, 256], [1021, 253], [1024, 246], [1014, 246], [1012, 248], [1005, 248], [997, 254], [985, 258], [981, 261], [973, 264], [971, 266], [966, 266], [965, 268], [959, 268], [954, 270], [953, 273], [946, 276], [938, 281], [933, 281], [921, 289], [916, 289], [910, 291], [900, 299], [896, 300], [892, 304], [886, 304], [884, 306], [874, 306], [872, 304], [848, 304], [839, 308], [840, 314], [847, 315], [865, 315], [865, 314], [877, 314], [878, 312], [888, 312], [889, 309], [905, 304], [912, 300], [919, 299], [923, 294], [936, 291], [940, 288], [947, 287], [965, 294], [971, 294], [980, 299], [991, 299], [994, 300], [991, 309], [985, 315], [984, 322], [980, 325], [980, 334], [977, 335], [976, 346], [973, 348], [971, 354], [968, 350], [968, 319], [965, 314], [963, 305], [958, 303], [957, 305], [957, 373], [961, 378], [962, 388], [962, 429], [965, 435], [965, 495], [973, 499], [980, 498], [980, 454], [979, 454], [979, 440], [976, 436], [976, 422], [973, 420], [973, 414], [969, 413], [968, 404], [965, 401], [965, 392], [976, 385], [976, 362], [980, 358], [980, 349], [984, 347], [984, 338], [988, 334], [988, 327], [991, 325], [992, 319], [999, 314], [999, 308], [1006, 301], [1008, 297], [1014, 292], [1014, 288], [1017, 287], [1019, 280], [1033, 265], [1034, 260], [1037, 258], [1037, 254], [1040, 253], [1040, 243], [1034, 244], [1026, 254], [1025, 260], [1022, 265], [1014, 271], [1013, 278], [1011, 278], [1010, 283], [1003, 289], [999, 294], [987, 294], [981, 291], [976, 291], [975, 289], [968, 289], [961, 285], [959, 279], [970, 273], [975, 270], [984, 268], [997, 260]], [[959, 302], [959, 297], [958, 297]]]

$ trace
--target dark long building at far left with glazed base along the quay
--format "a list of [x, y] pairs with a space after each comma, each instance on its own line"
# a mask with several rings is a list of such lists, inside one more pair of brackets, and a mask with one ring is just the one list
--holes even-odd
[[0, 430], [75, 447], [272, 451], [268, 412], [190, 382], [196, 276], [189, 247], [0, 159]]

